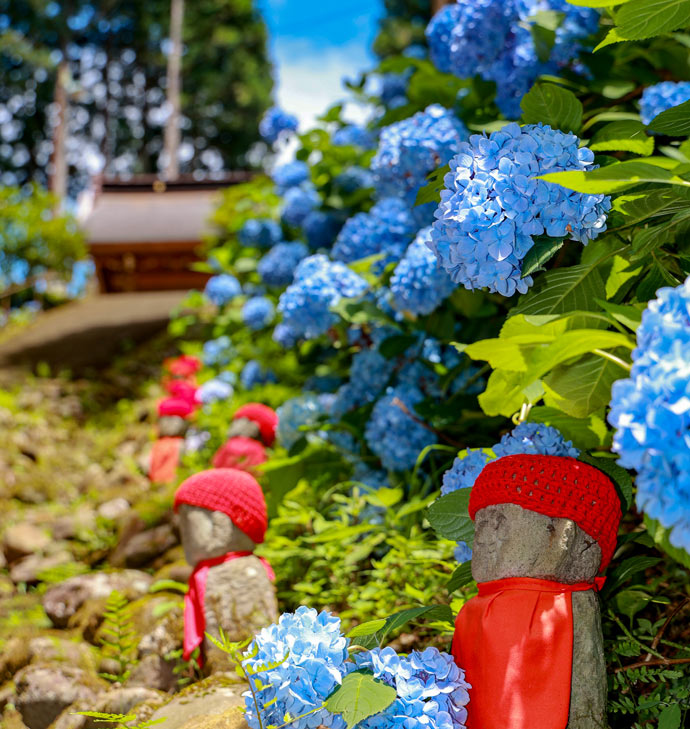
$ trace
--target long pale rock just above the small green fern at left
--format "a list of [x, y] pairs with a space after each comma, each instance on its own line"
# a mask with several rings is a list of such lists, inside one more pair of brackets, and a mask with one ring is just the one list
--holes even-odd
[[107, 600], [113, 590], [133, 599], [146, 594], [150, 586], [151, 577], [138, 570], [78, 575], [47, 590], [43, 608], [56, 627], [64, 628], [87, 600]]

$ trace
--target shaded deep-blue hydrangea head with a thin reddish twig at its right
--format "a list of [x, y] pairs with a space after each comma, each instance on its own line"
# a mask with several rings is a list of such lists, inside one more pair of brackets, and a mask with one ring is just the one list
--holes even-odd
[[410, 385], [389, 387], [371, 413], [365, 428], [367, 445], [389, 471], [413, 468], [424, 448], [436, 442], [434, 433], [421, 424], [415, 405], [424, 399]]

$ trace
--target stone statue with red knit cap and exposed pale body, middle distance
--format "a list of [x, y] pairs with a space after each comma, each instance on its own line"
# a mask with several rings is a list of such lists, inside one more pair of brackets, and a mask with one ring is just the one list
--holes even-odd
[[273, 570], [253, 554], [268, 522], [264, 495], [249, 473], [217, 468], [184, 481], [174, 508], [194, 567], [185, 596], [184, 658], [199, 648], [200, 666], [227, 670], [227, 656], [205, 633], [218, 637], [222, 628], [240, 641], [278, 619]]

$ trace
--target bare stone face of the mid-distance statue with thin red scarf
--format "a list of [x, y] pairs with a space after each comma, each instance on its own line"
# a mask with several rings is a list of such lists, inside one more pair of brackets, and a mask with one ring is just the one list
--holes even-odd
[[252, 552], [256, 544], [222, 511], [182, 504], [179, 509], [182, 548], [187, 562], [196, 565], [204, 559], [228, 552]]

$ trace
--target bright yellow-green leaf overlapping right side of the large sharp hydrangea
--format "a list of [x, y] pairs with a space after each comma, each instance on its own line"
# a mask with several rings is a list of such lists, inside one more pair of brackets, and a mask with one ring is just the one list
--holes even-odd
[[613, 192], [627, 190], [643, 182], [690, 187], [690, 182], [678, 177], [678, 175], [674, 175], [670, 170], [637, 160], [619, 162], [589, 172], [580, 170], [549, 172], [540, 175], [537, 179], [554, 182], [568, 190], [584, 192], [589, 195], [608, 195]]

